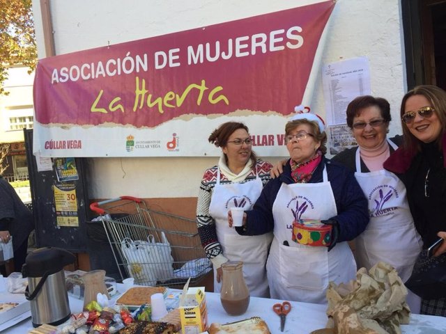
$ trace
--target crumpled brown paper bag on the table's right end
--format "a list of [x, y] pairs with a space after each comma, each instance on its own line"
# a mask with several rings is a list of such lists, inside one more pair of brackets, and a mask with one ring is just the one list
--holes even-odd
[[330, 282], [327, 328], [334, 334], [401, 333], [400, 324], [408, 324], [410, 317], [406, 296], [406, 287], [389, 264], [379, 262], [369, 273], [361, 268], [356, 280], [339, 286]]

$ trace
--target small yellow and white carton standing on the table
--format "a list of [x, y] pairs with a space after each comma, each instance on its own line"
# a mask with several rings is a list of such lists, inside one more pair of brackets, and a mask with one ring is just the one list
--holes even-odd
[[180, 300], [181, 333], [198, 334], [208, 328], [204, 287], [190, 287]]

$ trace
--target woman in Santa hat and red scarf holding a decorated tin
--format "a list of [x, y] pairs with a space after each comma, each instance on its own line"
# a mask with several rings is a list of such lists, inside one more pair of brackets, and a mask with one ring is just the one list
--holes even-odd
[[[293, 116], [286, 123], [285, 139], [290, 159], [283, 173], [266, 184], [236, 231], [274, 233], [266, 264], [272, 298], [327, 303], [330, 281], [339, 284], [355, 278], [355, 260], [344, 241], [357, 237], [369, 222], [367, 200], [351, 171], [325, 159], [327, 136], [318, 116]], [[325, 246], [311, 246], [317, 239], [313, 235], [303, 244], [293, 232], [293, 225], [309, 221], [316, 221], [318, 228], [324, 228], [321, 223], [329, 225]]]

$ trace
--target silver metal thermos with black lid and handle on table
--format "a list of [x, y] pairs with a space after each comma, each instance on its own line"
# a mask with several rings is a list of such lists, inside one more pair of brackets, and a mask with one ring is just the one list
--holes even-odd
[[56, 247], [39, 248], [26, 256], [22, 276], [28, 278], [25, 296], [31, 302], [34, 327], [57, 326], [70, 318], [63, 267], [74, 262], [75, 255]]

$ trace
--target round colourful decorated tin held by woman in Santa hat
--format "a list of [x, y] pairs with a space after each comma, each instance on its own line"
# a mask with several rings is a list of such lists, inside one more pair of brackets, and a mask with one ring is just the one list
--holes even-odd
[[299, 219], [293, 221], [293, 241], [306, 246], [329, 246], [332, 225], [325, 225], [321, 221]]

